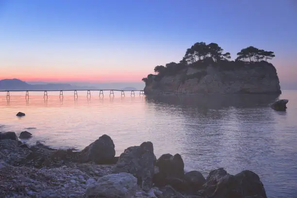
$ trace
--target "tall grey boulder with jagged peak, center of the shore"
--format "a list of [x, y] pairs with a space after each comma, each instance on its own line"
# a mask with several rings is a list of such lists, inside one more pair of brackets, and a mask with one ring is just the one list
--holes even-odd
[[144, 142], [140, 146], [126, 148], [119, 156], [113, 172], [131, 173], [141, 188], [147, 191], [152, 187], [155, 161], [153, 144]]

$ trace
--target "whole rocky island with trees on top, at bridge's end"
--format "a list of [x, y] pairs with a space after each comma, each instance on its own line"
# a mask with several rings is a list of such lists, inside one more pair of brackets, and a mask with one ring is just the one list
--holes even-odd
[[196, 43], [186, 50], [180, 63], [156, 66], [149, 74], [147, 95], [163, 94], [281, 94], [276, 68], [267, 60], [274, 52], [247, 47], [230, 61], [216, 43]]

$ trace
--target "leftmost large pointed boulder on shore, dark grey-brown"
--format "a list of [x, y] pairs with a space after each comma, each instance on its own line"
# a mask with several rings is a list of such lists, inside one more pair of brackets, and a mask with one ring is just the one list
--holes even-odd
[[81, 161], [112, 164], [115, 161], [115, 144], [111, 137], [104, 134], [98, 140], [84, 148], [81, 152]]

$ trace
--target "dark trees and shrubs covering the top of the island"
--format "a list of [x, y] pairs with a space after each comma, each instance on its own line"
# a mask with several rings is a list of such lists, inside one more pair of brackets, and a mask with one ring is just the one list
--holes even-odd
[[241, 49], [237, 53], [235, 61], [231, 61], [231, 54], [224, 52], [218, 44], [198, 42], [187, 49], [185, 55], [179, 63], [168, 63], [165, 66], [155, 66], [154, 72], [156, 75], [149, 74], [142, 81], [149, 83], [154, 79], [160, 81], [164, 76], [176, 75], [179, 71], [188, 67], [206, 68], [208, 65], [218, 66], [219, 69], [232, 70], [240, 66], [253, 66], [258, 62], [266, 62], [268, 59], [274, 58], [273, 51], [265, 51], [255, 47], [247, 47]]

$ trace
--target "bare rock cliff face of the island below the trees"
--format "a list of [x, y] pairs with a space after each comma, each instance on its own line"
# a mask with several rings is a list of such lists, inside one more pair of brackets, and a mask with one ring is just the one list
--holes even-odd
[[153, 75], [146, 82], [148, 95], [161, 94], [280, 94], [275, 67], [267, 62], [221, 67], [188, 67], [175, 75]]

